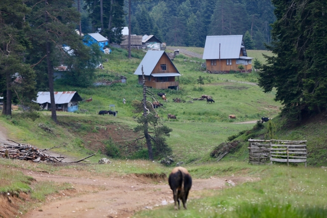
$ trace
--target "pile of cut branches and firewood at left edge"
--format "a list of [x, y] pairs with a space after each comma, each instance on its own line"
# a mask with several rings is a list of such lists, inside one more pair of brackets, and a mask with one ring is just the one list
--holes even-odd
[[[9, 141], [13, 141], [8, 139]], [[55, 149], [55, 148], [60, 148], [60, 147], [52, 147], [49, 149], [38, 149], [34, 146], [31, 146], [30, 144], [23, 144], [19, 143], [16, 141], [13, 141], [17, 143], [17, 145], [12, 145], [12, 144], [6, 144], [5, 146], [0, 147], [0, 157], [1, 158], [8, 158], [8, 159], [18, 159], [18, 160], [25, 160], [25, 161], [30, 161], [30, 162], [47, 162], [47, 163], [59, 163], [62, 162], [66, 157], [60, 156], [51, 156], [47, 154], [46, 152]], [[95, 154], [94, 154], [95, 155]], [[93, 155], [89, 156], [92, 157]], [[87, 157], [87, 158], [89, 158]], [[87, 159], [84, 158], [84, 159]], [[69, 162], [69, 163], [77, 163], [80, 161], [74, 161], [74, 162]]]

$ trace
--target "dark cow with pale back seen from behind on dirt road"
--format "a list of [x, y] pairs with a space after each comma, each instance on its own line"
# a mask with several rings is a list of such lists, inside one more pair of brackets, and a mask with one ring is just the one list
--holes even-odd
[[187, 169], [184, 167], [174, 168], [169, 175], [168, 183], [173, 190], [175, 209], [177, 209], [177, 202], [180, 209], [180, 199], [183, 202], [184, 208], [187, 209], [186, 201], [192, 187], [192, 178]]

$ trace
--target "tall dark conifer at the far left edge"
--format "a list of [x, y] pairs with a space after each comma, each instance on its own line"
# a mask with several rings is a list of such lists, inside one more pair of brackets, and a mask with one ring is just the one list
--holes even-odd
[[24, 63], [24, 54], [31, 43], [25, 17], [30, 9], [22, 0], [0, 2], [0, 93], [4, 95], [3, 114], [12, 114], [12, 99], [20, 104], [31, 102], [35, 94], [35, 73]]

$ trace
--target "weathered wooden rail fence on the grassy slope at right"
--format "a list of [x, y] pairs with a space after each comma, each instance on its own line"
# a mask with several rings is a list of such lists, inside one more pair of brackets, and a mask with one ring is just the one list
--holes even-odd
[[275, 162], [304, 163], [306, 167], [306, 142], [290, 140], [249, 139], [249, 162], [252, 164], [272, 164]]

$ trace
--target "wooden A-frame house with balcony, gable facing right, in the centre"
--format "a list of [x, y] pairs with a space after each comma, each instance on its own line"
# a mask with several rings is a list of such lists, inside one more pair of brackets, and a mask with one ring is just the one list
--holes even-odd
[[138, 84], [143, 84], [141, 67], [143, 66], [145, 85], [155, 89], [177, 89], [182, 76], [165, 51], [148, 50], [134, 72], [138, 75]]

